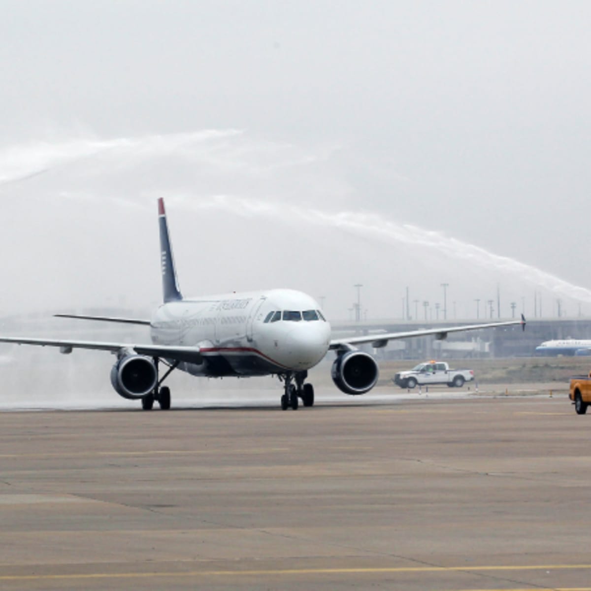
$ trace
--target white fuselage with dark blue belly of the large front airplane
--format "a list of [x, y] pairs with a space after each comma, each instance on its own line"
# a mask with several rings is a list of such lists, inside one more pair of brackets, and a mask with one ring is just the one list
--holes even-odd
[[152, 316], [151, 337], [199, 350], [201, 363], [178, 366], [192, 375], [282, 374], [323, 359], [330, 324], [301, 291], [252, 291], [165, 303]]

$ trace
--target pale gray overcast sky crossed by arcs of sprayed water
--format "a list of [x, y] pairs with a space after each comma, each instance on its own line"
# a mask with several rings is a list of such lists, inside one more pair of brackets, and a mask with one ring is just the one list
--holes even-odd
[[0, 11], [5, 313], [149, 310], [164, 196], [187, 294], [591, 314], [588, 2]]

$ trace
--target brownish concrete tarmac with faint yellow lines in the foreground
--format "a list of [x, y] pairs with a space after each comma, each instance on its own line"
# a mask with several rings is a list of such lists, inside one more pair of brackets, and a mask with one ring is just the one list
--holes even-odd
[[591, 590], [564, 392], [319, 399], [0, 413], [0, 589]]

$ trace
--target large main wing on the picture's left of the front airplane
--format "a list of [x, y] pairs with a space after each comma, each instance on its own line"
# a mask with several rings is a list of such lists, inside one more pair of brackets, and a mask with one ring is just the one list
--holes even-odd
[[134, 345], [133, 343], [102, 343], [91, 340], [64, 339], [29, 339], [27, 337], [0, 336], [0, 343], [15, 345], [38, 345], [41, 347], [59, 347], [62, 353], [70, 353], [72, 349], [95, 349], [117, 353], [122, 349], [134, 350], [138, 355], [149, 355], [164, 359], [175, 359], [189, 363], [200, 363], [202, 356], [197, 347], [172, 345]]

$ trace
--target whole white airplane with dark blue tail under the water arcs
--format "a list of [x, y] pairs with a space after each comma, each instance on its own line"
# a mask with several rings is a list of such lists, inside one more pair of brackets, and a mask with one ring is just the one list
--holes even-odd
[[[121, 322], [150, 326], [151, 343], [95, 342], [64, 339], [29, 339], [0, 336], [0, 342], [72, 349], [99, 349], [117, 355], [111, 369], [111, 383], [123, 398], [141, 400], [144, 410], [154, 401], [170, 408], [170, 389], [164, 380], [174, 369], [191, 375], [223, 376], [277, 375], [283, 382], [281, 408], [314, 404], [314, 388], [306, 382], [308, 370], [332, 349], [336, 359], [332, 379], [345, 394], [365, 394], [378, 381], [374, 358], [356, 348], [372, 343], [384, 347], [388, 340], [435, 335], [445, 339], [449, 333], [496, 326], [521, 324], [525, 319], [488, 324], [472, 324], [438, 329], [412, 330], [330, 338], [330, 324], [313, 298], [301, 291], [276, 289], [228, 293], [199, 298], [183, 298], [178, 287], [173, 252], [168, 234], [164, 201], [158, 199], [161, 268], [164, 303], [151, 320], [56, 314], [66, 318]], [[160, 376], [160, 363], [167, 370]]]

